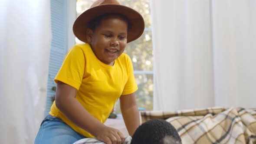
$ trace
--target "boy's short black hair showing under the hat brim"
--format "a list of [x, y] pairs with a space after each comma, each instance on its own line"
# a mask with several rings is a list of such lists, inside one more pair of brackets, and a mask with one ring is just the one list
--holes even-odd
[[119, 14], [119, 13], [106, 13], [106, 14], [103, 14], [103, 15], [100, 15], [100, 16], [97, 16], [96, 18], [94, 18], [93, 20], [89, 21], [88, 23], [88, 28], [89, 29], [92, 29], [92, 31], [95, 30], [95, 28], [100, 25], [101, 21], [103, 18], [105, 18], [106, 16], [111, 16], [111, 15], [117, 15], [117, 16], [120, 16], [122, 17], [123, 19], [125, 19], [128, 23], [128, 29], [131, 29], [131, 23], [129, 22], [128, 18], [122, 14]]

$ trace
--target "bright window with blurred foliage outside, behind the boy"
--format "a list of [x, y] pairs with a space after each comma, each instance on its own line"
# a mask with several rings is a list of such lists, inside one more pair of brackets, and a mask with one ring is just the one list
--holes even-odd
[[[77, 0], [77, 17], [88, 10], [95, 0]], [[141, 13], [145, 21], [143, 35], [128, 43], [125, 53], [131, 57], [135, 79], [138, 84], [136, 101], [138, 107], [153, 110], [153, 49], [151, 35], [150, 0], [118, 0], [118, 2]], [[83, 43], [75, 38], [76, 44]], [[115, 107], [116, 113], [120, 112], [119, 101]]]

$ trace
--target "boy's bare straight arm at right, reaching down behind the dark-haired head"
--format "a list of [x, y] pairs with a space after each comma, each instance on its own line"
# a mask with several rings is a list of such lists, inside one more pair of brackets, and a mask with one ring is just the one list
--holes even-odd
[[135, 101], [135, 93], [121, 95], [120, 108], [129, 135], [133, 135], [140, 125], [138, 106]]

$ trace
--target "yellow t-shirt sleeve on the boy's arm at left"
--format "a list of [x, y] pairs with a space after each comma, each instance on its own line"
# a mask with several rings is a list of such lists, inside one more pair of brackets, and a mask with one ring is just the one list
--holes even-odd
[[77, 90], [85, 72], [85, 55], [79, 46], [72, 47], [66, 54], [54, 81], [64, 82]]

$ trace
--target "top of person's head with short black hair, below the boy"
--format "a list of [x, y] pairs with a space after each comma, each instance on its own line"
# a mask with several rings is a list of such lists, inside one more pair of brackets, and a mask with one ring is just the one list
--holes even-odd
[[163, 119], [152, 119], [136, 129], [131, 144], [182, 144], [182, 142], [171, 123]]

